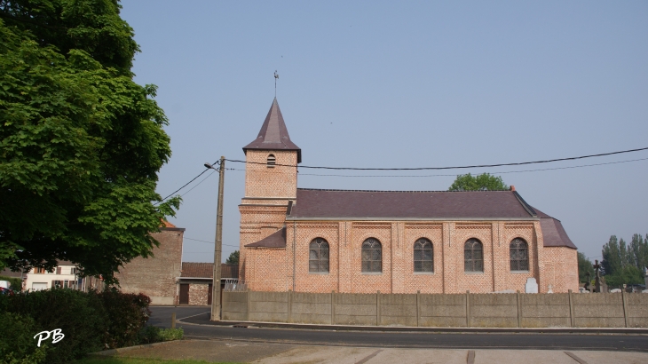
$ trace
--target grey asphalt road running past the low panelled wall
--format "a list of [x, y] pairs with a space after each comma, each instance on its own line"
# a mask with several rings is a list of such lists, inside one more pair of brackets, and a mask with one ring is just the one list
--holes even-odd
[[[296, 328], [233, 328], [209, 325], [209, 307], [152, 307], [149, 322], [170, 327], [176, 312], [178, 327], [194, 338], [257, 343], [308, 344], [381, 348], [541, 349], [648, 352], [648, 336], [549, 333], [433, 333], [334, 331]], [[192, 323], [188, 323], [192, 322]], [[200, 324], [200, 323], [204, 324]]]

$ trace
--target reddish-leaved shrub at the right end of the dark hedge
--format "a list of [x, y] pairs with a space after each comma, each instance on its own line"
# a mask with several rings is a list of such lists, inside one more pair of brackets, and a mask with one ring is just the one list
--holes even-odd
[[107, 346], [119, 348], [137, 344], [138, 333], [151, 316], [148, 309], [151, 298], [141, 293], [122, 293], [117, 289], [101, 292], [98, 297], [108, 314]]

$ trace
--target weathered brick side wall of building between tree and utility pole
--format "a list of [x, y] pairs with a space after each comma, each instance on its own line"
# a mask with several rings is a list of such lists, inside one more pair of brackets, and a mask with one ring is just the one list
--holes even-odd
[[185, 229], [162, 227], [152, 233], [160, 246], [153, 249], [154, 257], [136, 257], [120, 268], [115, 277], [126, 293], [143, 293], [153, 305], [174, 305], [178, 295], [177, 278], [182, 266], [182, 238]]

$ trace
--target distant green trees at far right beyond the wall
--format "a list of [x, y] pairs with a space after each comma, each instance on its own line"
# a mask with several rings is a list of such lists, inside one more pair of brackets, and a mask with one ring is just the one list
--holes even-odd
[[602, 250], [603, 271], [608, 285], [644, 283], [644, 268], [648, 263], [648, 234], [645, 239], [636, 233], [630, 244], [612, 235]]

